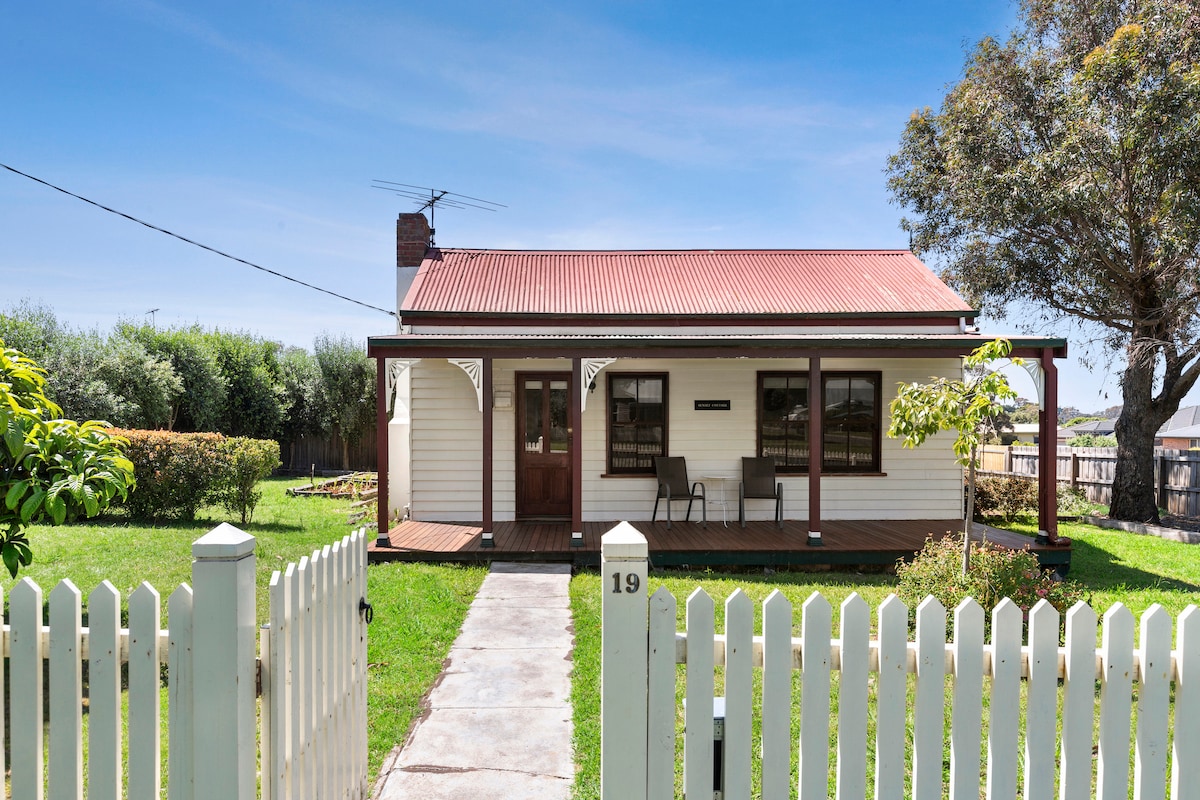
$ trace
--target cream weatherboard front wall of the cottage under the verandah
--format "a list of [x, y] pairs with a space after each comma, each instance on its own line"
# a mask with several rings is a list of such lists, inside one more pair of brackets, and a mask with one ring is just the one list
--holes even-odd
[[[518, 372], [568, 372], [568, 360], [498, 360], [493, 365], [493, 390], [509, 392], [508, 408], [493, 409], [493, 517], [515, 518], [516, 407]], [[674, 361], [622, 359], [596, 377], [596, 390], [583, 413], [583, 519], [649, 519], [656, 483], [653, 476], [608, 477], [606, 471], [606, 395], [611, 373], [667, 373], [668, 446], [673, 456], [688, 458], [692, 481], [704, 475], [728, 475], [726, 483], [730, 518], [737, 517], [737, 477], [742, 457], [755, 450], [755, 404], [761, 371], [805, 371], [804, 359], [714, 359]], [[883, 373], [882, 403], [886, 409], [899, 383], [928, 380], [931, 375], [960, 374], [955, 360], [845, 359], [822, 361], [826, 373], [877, 369]], [[730, 401], [730, 410], [697, 411], [695, 401]], [[475, 390], [458, 367], [426, 359], [413, 368], [413, 517], [428, 522], [462, 522], [482, 516], [481, 416]], [[822, 482], [822, 517], [826, 519], [928, 519], [954, 518], [961, 513], [961, 470], [950, 450], [953, 438], [942, 434], [917, 450], [904, 450], [896, 440], [882, 440], [883, 476], [826, 475]], [[784, 482], [785, 516], [808, 515], [808, 476]], [[714, 498], [716, 486], [713, 485]], [[720, 518], [720, 507], [710, 506]], [[660, 509], [661, 513], [661, 509]], [[692, 518], [698, 516], [694, 510]], [[748, 504], [751, 519], [773, 515], [769, 503]]]

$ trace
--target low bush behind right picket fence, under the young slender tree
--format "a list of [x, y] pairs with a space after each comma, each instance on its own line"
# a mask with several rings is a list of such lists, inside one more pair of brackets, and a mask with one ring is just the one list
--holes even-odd
[[959, 536], [938, 541], [929, 537], [917, 558], [896, 565], [896, 577], [900, 579], [896, 596], [910, 609], [914, 610], [928, 595], [936, 597], [947, 610], [974, 597], [988, 613], [989, 626], [991, 609], [1004, 597], [1020, 607], [1026, 620], [1039, 600], [1066, 614], [1085, 599], [1078, 584], [1043, 572], [1037, 555], [1027, 549], [972, 542], [971, 570], [962, 575], [962, 539]]

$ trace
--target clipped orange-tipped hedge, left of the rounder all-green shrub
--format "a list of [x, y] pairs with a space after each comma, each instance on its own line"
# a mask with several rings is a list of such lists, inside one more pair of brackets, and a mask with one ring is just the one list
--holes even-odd
[[227, 474], [220, 433], [118, 431], [130, 441], [137, 488], [125, 504], [142, 519], [194, 519]]

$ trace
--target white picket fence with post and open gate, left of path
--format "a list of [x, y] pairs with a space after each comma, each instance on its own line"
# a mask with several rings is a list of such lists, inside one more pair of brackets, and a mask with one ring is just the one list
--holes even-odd
[[[82, 594], [70, 581], [50, 591], [48, 626], [41, 588], [19, 581], [8, 594], [8, 688], [0, 692], [0, 726], [6, 716], [10, 724], [11, 796], [78, 800], [85, 786], [92, 800], [162, 796], [161, 668], [167, 664], [170, 800], [257, 798], [259, 744], [264, 800], [366, 798], [366, 620], [360, 610], [366, 545], [366, 531], [356, 530], [274, 573], [260, 661], [256, 541], [233, 525], [192, 543], [192, 585], [172, 593], [168, 630], [160, 630], [160, 595], [149, 583], [130, 595], [128, 627], [122, 628], [121, 596], [108, 581], [88, 595], [88, 627]], [[0, 661], [0, 682], [2, 670]], [[0, 748], [0, 774], [4, 766]]]

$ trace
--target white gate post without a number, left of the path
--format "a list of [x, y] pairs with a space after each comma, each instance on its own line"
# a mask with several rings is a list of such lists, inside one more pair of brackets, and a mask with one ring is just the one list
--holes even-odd
[[192, 542], [197, 800], [257, 794], [254, 537], [222, 523]]

